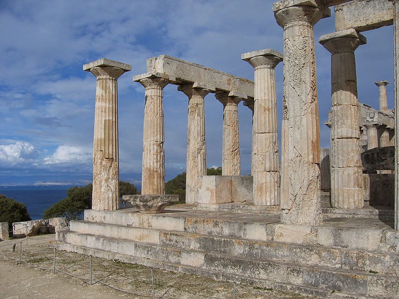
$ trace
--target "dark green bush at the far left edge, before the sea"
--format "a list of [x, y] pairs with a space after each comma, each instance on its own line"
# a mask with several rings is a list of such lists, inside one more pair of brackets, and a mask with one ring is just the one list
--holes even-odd
[[30, 216], [25, 204], [0, 194], [0, 222], [8, 222], [8, 230], [13, 222], [29, 221]]

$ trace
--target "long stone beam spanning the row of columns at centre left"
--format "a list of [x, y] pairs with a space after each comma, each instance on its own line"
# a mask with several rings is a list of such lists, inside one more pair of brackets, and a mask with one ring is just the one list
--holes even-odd
[[167, 75], [171, 84], [196, 83], [214, 93], [233, 92], [244, 99], [253, 98], [254, 85], [251, 80], [167, 55], [147, 59], [147, 72]]

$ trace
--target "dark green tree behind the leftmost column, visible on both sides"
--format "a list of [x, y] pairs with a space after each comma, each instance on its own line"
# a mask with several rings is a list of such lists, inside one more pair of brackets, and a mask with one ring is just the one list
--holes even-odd
[[[66, 192], [67, 197], [54, 203], [44, 211], [44, 218], [66, 217], [68, 220], [79, 219], [83, 211], [91, 209], [93, 185], [71, 187]], [[119, 195], [136, 194], [137, 188], [129, 182], [119, 181]]]

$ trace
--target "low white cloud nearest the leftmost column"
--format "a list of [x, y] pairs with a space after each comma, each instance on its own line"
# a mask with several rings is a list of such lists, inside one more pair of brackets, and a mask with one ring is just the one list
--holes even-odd
[[88, 163], [92, 153], [76, 146], [59, 146], [51, 156], [44, 158], [44, 165], [57, 163], [80, 162]]

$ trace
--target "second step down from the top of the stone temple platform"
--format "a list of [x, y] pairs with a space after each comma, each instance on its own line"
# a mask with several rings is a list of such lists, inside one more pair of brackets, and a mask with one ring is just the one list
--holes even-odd
[[283, 262], [297, 262], [300, 260], [301, 264], [304, 265], [399, 275], [399, 256], [392, 253], [339, 249], [320, 245], [248, 240], [87, 221], [71, 221], [70, 230], [83, 234], [159, 244], [173, 248], [214, 252], [237, 257], [245, 256], [247, 258]]

